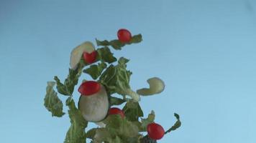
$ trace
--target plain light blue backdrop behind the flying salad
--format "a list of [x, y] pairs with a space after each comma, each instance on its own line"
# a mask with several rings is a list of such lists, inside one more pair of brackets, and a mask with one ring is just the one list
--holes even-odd
[[154, 109], [165, 129], [174, 112], [183, 122], [159, 142], [255, 143], [255, 8], [253, 0], [0, 0], [0, 142], [63, 142], [69, 119], [43, 106], [46, 82], [65, 79], [73, 47], [126, 28], [144, 39], [112, 50], [131, 59], [132, 89], [150, 77], [166, 84], [142, 98], [145, 114]]

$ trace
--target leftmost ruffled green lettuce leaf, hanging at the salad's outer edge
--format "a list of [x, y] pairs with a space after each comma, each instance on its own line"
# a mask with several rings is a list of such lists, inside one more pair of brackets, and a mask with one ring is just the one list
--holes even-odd
[[54, 91], [54, 86], [55, 82], [47, 82], [44, 105], [52, 113], [52, 117], [62, 117], [65, 114], [63, 112], [63, 102], [58, 98], [57, 92]]

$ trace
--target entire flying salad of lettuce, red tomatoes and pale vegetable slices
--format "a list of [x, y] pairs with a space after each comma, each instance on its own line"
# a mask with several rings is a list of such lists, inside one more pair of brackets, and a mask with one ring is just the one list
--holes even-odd
[[[90, 41], [76, 46], [70, 54], [68, 77], [61, 81], [55, 76], [54, 81], [47, 82], [44, 105], [52, 117], [65, 115], [58, 93], [67, 97], [65, 105], [70, 128], [64, 143], [84, 143], [86, 139], [93, 143], [153, 143], [180, 127], [178, 114], [174, 114], [177, 122], [168, 130], [154, 122], [154, 111], [145, 117], [140, 98], [160, 94], [165, 84], [162, 79], [152, 77], [147, 80], [149, 88], [132, 89], [129, 85], [132, 71], [127, 69], [129, 59], [116, 59], [109, 47], [121, 50], [126, 45], [140, 43], [142, 35], [132, 36], [127, 29], [119, 29], [117, 38], [111, 41], [96, 39], [99, 48]], [[91, 79], [78, 83], [81, 74], [88, 74]], [[78, 90], [74, 91], [78, 84]], [[75, 94], [80, 94], [78, 103], [73, 99]], [[124, 107], [120, 109], [122, 104]], [[98, 127], [87, 129], [88, 123]]]

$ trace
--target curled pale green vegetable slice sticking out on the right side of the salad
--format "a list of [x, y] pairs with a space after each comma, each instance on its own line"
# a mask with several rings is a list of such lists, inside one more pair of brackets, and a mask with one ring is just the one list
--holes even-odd
[[147, 83], [150, 84], [150, 88], [142, 88], [137, 90], [137, 94], [140, 95], [152, 95], [160, 94], [165, 89], [165, 83], [158, 77], [147, 79]]

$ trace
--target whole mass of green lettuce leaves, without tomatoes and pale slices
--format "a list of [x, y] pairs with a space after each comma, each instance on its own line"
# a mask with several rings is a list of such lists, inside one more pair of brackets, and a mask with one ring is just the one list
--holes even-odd
[[[55, 84], [58, 93], [68, 96], [66, 106], [68, 106], [68, 115], [70, 117], [70, 128], [65, 137], [65, 143], [84, 143], [86, 138], [91, 142], [106, 143], [136, 143], [136, 142], [156, 142], [147, 136], [143, 137], [142, 132], [147, 130], [147, 124], [154, 122], [155, 113], [152, 111], [147, 118], [144, 116], [139, 102], [127, 99], [127, 89], [130, 89], [129, 81], [132, 72], [127, 70], [128, 59], [121, 57], [118, 60], [111, 53], [109, 46], [114, 49], [122, 49], [126, 44], [134, 44], [142, 41], [142, 35], [132, 36], [129, 43], [122, 43], [119, 40], [99, 41], [96, 44], [102, 46], [97, 51], [96, 62], [88, 64], [81, 57], [76, 69], [69, 69], [68, 77], [64, 82], [55, 76], [55, 82], [47, 82], [47, 90], [45, 95], [45, 107], [52, 113], [52, 117], [63, 117], [63, 103], [55, 92]], [[117, 61], [117, 62], [116, 62]], [[103, 123], [106, 127], [93, 128], [86, 132], [88, 122], [83, 119], [80, 110], [73, 101], [74, 87], [78, 84], [78, 79], [82, 73], [89, 74], [92, 79], [97, 80], [106, 88], [111, 106], [125, 103], [122, 109], [125, 118], [118, 115], [111, 115], [104, 119]], [[120, 94], [122, 98], [113, 97], [112, 94]], [[180, 127], [178, 114], [175, 114], [178, 121], [168, 130]]]

